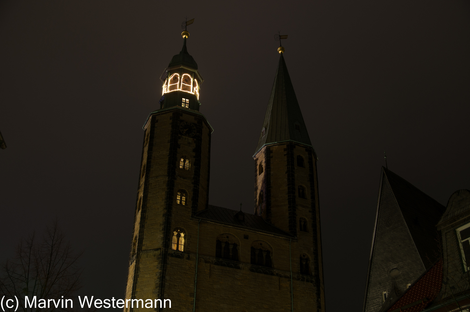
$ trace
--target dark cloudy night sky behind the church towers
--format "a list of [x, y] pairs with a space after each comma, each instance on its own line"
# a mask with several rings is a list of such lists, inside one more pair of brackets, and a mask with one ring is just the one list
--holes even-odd
[[279, 58], [318, 154], [329, 312], [360, 311], [380, 170], [446, 205], [470, 189], [470, 2], [1, 1], [0, 260], [56, 216], [81, 294], [124, 297], [142, 124], [182, 46], [214, 128], [210, 204], [253, 211]]

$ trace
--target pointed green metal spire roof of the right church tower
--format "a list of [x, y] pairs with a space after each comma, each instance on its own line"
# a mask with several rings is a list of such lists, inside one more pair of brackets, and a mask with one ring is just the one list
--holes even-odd
[[289, 140], [312, 145], [281, 53], [256, 152], [265, 144]]

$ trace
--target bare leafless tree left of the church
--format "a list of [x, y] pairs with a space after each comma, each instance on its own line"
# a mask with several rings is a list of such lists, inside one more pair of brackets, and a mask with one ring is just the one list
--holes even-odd
[[[70, 242], [65, 239], [57, 220], [46, 227], [42, 241], [35, 233], [22, 238], [13, 259], [8, 259], [1, 267], [0, 298], [20, 300], [24, 312], [72, 311], [69, 307], [30, 308], [25, 307], [24, 298], [33, 296], [39, 299], [71, 299], [74, 292], [81, 288], [82, 269], [78, 259], [82, 252], [75, 253]], [[62, 297], [63, 296], [63, 297]], [[16, 299], [15, 299], [16, 302]], [[18, 307], [18, 311], [20, 311]], [[65, 307], [65, 305], [64, 305]]]

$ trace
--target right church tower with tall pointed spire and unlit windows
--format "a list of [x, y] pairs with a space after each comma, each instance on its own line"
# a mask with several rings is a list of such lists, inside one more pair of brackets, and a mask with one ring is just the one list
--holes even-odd
[[290, 81], [284, 48], [278, 51], [281, 56], [253, 156], [255, 214], [309, 247], [317, 296], [323, 298], [317, 155]]

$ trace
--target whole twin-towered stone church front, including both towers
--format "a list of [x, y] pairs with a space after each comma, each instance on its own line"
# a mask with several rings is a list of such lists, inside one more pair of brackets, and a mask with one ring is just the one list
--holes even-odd
[[143, 300], [124, 311], [151, 311], [142, 307], [150, 302], [160, 310], [155, 299], [170, 299], [177, 311], [324, 312], [317, 157], [283, 48], [253, 156], [251, 214], [209, 205], [212, 128], [182, 36], [161, 76], [160, 108], [143, 127], [125, 295]]

